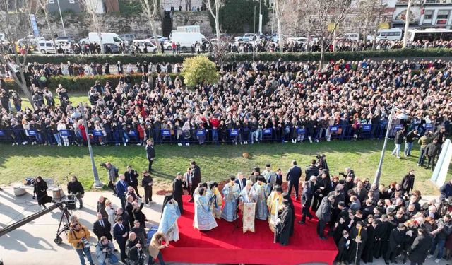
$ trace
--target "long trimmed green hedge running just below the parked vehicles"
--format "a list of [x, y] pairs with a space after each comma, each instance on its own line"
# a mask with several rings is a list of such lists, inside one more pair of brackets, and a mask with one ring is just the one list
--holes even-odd
[[[166, 52], [166, 51], [165, 51]], [[57, 55], [28, 55], [27, 61], [37, 61], [41, 64], [53, 63], [60, 64], [71, 61], [71, 63], [90, 64], [101, 63], [109, 61], [114, 64], [121, 61], [122, 64], [136, 64], [137, 61], [148, 61], [155, 63], [169, 62], [170, 64], [182, 63], [184, 58], [193, 57], [194, 54], [172, 54], [167, 52], [165, 54], [101, 54], [101, 55], [72, 55], [72, 54], [57, 54]], [[213, 57], [208, 55], [211, 60]], [[362, 51], [362, 52], [326, 52], [326, 60], [360, 60], [366, 58], [400, 58], [400, 57], [451, 57], [452, 49], [391, 49], [379, 51]], [[251, 61], [253, 54], [227, 54], [226, 61]], [[256, 61], [276, 61], [283, 59], [283, 61], [316, 61], [320, 59], [320, 52], [262, 52], [254, 54]]]

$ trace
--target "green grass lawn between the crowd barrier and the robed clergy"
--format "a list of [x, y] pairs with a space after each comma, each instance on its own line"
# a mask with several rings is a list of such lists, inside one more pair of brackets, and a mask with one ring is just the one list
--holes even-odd
[[[160, 184], [169, 184], [176, 172], [185, 172], [191, 159], [201, 167], [203, 181], [220, 181], [237, 172], [251, 173], [255, 166], [261, 168], [271, 163], [286, 171], [292, 160], [297, 160], [303, 168], [316, 154], [325, 153], [332, 175], [343, 172], [347, 166], [352, 167], [358, 177], [374, 179], [379, 163], [383, 141], [333, 141], [330, 143], [292, 143], [256, 144], [253, 146], [176, 146], [159, 145], [155, 148], [154, 177]], [[438, 189], [429, 182], [430, 170], [417, 167], [419, 146], [415, 146], [413, 157], [396, 159], [391, 156], [393, 141], [388, 143], [383, 162], [381, 182], [400, 182], [410, 168], [415, 168], [417, 182], [415, 189], [424, 194], [438, 194]], [[102, 182], [107, 182], [107, 173], [99, 163], [110, 161], [119, 172], [124, 172], [127, 165], [136, 170], [143, 170], [148, 163], [143, 146], [95, 146], [95, 163]], [[242, 157], [249, 152], [251, 159]], [[21, 181], [24, 177], [41, 175], [51, 177], [56, 182], [64, 182], [63, 177], [72, 172], [78, 176], [85, 187], [93, 184], [88, 148], [69, 146], [8, 146], [0, 145], [0, 184]], [[304, 175], [304, 173], [303, 173]]]

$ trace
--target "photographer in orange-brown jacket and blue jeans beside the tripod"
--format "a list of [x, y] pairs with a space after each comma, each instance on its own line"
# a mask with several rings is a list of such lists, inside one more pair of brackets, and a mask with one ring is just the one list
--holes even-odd
[[85, 257], [83, 254], [88, 261], [90, 261], [90, 264], [94, 265], [94, 261], [91, 258], [89, 240], [90, 231], [86, 226], [81, 225], [77, 220], [74, 223], [71, 223], [71, 229], [68, 232], [68, 242], [76, 249], [81, 265], [85, 265]]

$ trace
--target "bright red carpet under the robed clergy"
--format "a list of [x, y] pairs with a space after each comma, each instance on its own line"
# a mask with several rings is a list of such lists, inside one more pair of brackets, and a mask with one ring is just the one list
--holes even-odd
[[[217, 220], [218, 227], [208, 232], [193, 228], [194, 205], [184, 196], [184, 214], [179, 218], [180, 240], [170, 242], [162, 250], [165, 261], [217, 264], [278, 264], [294, 265], [308, 262], [333, 264], [338, 250], [331, 238], [320, 240], [316, 235], [316, 220], [306, 225], [295, 223], [290, 245], [283, 247], [273, 243], [273, 232], [268, 222], [256, 220], [256, 232], [242, 232], [234, 223]], [[299, 201], [294, 201], [296, 221], [301, 218]]]

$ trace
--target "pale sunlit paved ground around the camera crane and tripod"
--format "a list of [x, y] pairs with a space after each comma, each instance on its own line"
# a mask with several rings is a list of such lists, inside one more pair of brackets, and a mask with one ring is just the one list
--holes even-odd
[[[92, 223], [95, 221], [95, 212], [97, 211], [96, 202], [101, 194], [112, 199], [114, 204], [120, 205], [119, 199], [113, 197], [111, 192], [86, 193], [83, 199], [85, 207], [83, 210], [73, 211], [73, 214], [78, 216], [81, 223], [87, 225], [89, 229], [92, 228]], [[156, 201], [156, 204], [145, 206], [143, 212], [148, 220], [150, 220], [150, 223], [156, 224], [160, 220], [163, 196], [153, 195], [153, 199]], [[0, 191], [0, 227], [11, 225], [16, 220], [30, 216], [37, 211], [40, 211], [40, 206], [37, 206], [30, 192], [24, 196], [16, 197], [13, 195], [13, 189], [11, 188], [5, 188], [3, 191]], [[64, 238], [64, 242], [61, 245], [54, 243], [59, 218], [61, 218], [61, 211], [56, 209], [0, 237], [0, 258], [4, 260], [4, 264], [78, 264], [78, 256], [73, 250], [73, 247], [66, 242], [66, 238]], [[95, 244], [95, 237], [92, 237], [90, 241]], [[93, 250], [94, 247], [91, 249]], [[401, 262], [401, 259], [399, 258], [398, 261]], [[182, 263], [172, 264], [189, 265]], [[379, 259], [372, 264], [384, 263], [383, 260]], [[432, 259], [428, 260], [425, 264], [436, 265]], [[446, 261], [443, 261], [441, 264], [446, 264]]]

